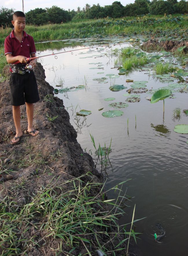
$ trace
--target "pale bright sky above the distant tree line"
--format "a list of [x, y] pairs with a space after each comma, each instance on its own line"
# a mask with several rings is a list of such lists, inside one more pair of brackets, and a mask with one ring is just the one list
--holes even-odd
[[[28, 12], [30, 10], [34, 10], [35, 8], [45, 8], [51, 7], [52, 5], [56, 5], [64, 10], [68, 10], [69, 8], [72, 10], [77, 10], [79, 6], [81, 9], [86, 5], [86, 3], [93, 4], [99, 3], [100, 6], [110, 5], [115, 0], [70, 0], [70, 1], [62, 1], [62, 0], [23, 0], [24, 1], [24, 12]], [[126, 6], [128, 3], [134, 3], [134, 0], [120, 0], [121, 4]], [[15, 9], [15, 11], [22, 11], [22, 0], [0, 0], [0, 7], [6, 7], [8, 9]]]

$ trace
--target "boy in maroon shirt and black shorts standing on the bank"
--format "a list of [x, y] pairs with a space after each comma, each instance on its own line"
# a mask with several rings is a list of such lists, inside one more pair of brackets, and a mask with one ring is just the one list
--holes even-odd
[[[12, 112], [14, 124], [16, 127], [16, 135], [11, 140], [11, 144], [19, 142], [23, 135], [21, 131], [21, 113], [20, 106], [26, 104], [28, 127], [27, 133], [36, 136], [39, 131], [33, 128], [33, 103], [40, 100], [38, 94], [38, 87], [33, 70], [27, 69], [27, 58], [35, 57], [36, 48], [33, 37], [27, 35], [25, 28], [25, 14], [16, 11], [13, 14], [12, 25], [14, 30], [5, 39], [5, 56], [7, 62], [10, 63], [10, 104], [12, 105]], [[15, 64], [18, 63], [18, 64]], [[36, 66], [36, 59], [32, 60], [33, 67]]]

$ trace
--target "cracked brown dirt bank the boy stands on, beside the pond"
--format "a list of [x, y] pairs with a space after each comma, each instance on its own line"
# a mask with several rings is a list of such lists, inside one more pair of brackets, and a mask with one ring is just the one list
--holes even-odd
[[[8, 72], [8, 68], [5, 69], [5, 72]], [[6, 212], [12, 211], [12, 204], [17, 207], [17, 212], [21, 211], [25, 205], [32, 202], [32, 198], [38, 194], [38, 191], [45, 189], [49, 184], [51, 187], [55, 187], [54, 191], [58, 196], [62, 191], [72, 189], [70, 182], [66, 183], [66, 181], [74, 177], [83, 176], [81, 182], [84, 184], [91, 182], [91, 180], [96, 184], [103, 182], [103, 176], [94, 168], [91, 156], [84, 153], [80, 144], [78, 144], [76, 140], [77, 134], [69, 122], [69, 114], [64, 109], [63, 101], [58, 97], [54, 97], [54, 89], [45, 81], [45, 71], [40, 63], [37, 64], [34, 72], [40, 95], [40, 101], [35, 104], [34, 128], [38, 129], [40, 133], [36, 137], [23, 134], [21, 144], [11, 145], [9, 143], [13, 137], [12, 133], [15, 132], [12, 107], [10, 106], [9, 80], [0, 84], [0, 164], [1, 174], [5, 177], [4, 182], [0, 183], [0, 202], [6, 202], [6, 207], [4, 208]], [[47, 119], [47, 114], [51, 117], [58, 117], [52, 122]], [[21, 106], [21, 128], [22, 131], [27, 128], [25, 105]], [[11, 160], [8, 164], [4, 163], [6, 158]], [[89, 173], [89, 175], [86, 175], [86, 173]], [[13, 179], [6, 180], [6, 175], [8, 174], [11, 174]], [[57, 186], [59, 187], [57, 188]], [[97, 196], [101, 186], [93, 186], [91, 191], [88, 191], [88, 196]], [[104, 196], [103, 200], [105, 198], [106, 196]], [[107, 206], [103, 205], [103, 203], [101, 205], [104, 211], [109, 212]], [[98, 211], [101, 211], [99, 206], [94, 205], [93, 212], [95, 214], [97, 207]], [[30, 239], [28, 246], [19, 240], [16, 246], [16, 249], [21, 252], [19, 255], [26, 255], [23, 254], [24, 252], [29, 256], [85, 255], [87, 254], [86, 247], [90, 252], [93, 252], [91, 253], [92, 255], [97, 255], [96, 250], [99, 249], [99, 246], [97, 246], [95, 236], [85, 236], [84, 239], [90, 239], [92, 244], [88, 245], [86, 242], [76, 244], [74, 245], [75, 249], [70, 253], [71, 248], [65, 240], [58, 239], [54, 235], [46, 236], [45, 230], [42, 230], [46, 222], [45, 218], [48, 218], [48, 214], [41, 216], [38, 211], [37, 219], [36, 216], [32, 217], [31, 215], [29, 222], [22, 221], [20, 222], [21, 225], [16, 227], [18, 229], [14, 235], [15, 240], [18, 240], [19, 234], [22, 233], [21, 230], [24, 230], [22, 233], [23, 238]], [[37, 225], [32, 224], [36, 222]], [[4, 222], [2, 219], [1, 227], [2, 225], [5, 229], [11, 223]], [[27, 229], [24, 229], [26, 226]], [[117, 229], [113, 228], [113, 225], [111, 226], [110, 232], [113, 231], [112, 233], [116, 234]], [[95, 227], [96, 232], [105, 229], [106, 227], [103, 226]], [[11, 232], [13, 232], [13, 229]], [[112, 241], [110, 243], [109, 241], [114, 234], [110, 234], [109, 237], [104, 235], [98, 241], [101, 245], [106, 244], [109, 250], [108, 255], [113, 255], [110, 251], [115, 246], [112, 246]], [[125, 236], [118, 234], [118, 242], [115, 242], [115, 245], [123, 239], [125, 239]], [[2, 250], [4, 250], [4, 253], [10, 250], [10, 244], [7, 241], [5, 239], [4, 243], [1, 244], [0, 253], [2, 253]], [[125, 246], [125, 244], [123, 243], [117, 248], [122, 248], [122, 246]], [[60, 247], [61, 250], [58, 249]], [[125, 255], [126, 253], [125, 251], [123, 253], [122, 251], [116, 251], [115, 254]], [[130, 253], [130, 255], [133, 254]]]

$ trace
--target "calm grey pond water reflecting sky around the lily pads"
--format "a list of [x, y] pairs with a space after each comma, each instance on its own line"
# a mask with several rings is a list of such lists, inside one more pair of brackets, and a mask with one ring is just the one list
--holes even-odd
[[[110, 46], [58, 54], [57, 59], [48, 56], [39, 60], [45, 68], [47, 82], [54, 88], [61, 89], [56, 85], [62, 85], [62, 88], [85, 85], [84, 89], [57, 94], [70, 114], [71, 124], [78, 132], [77, 139], [82, 148], [92, 152], [95, 158], [90, 134], [93, 135], [97, 148], [99, 143], [109, 147], [112, 138], [110, 162], [106, 169], [106, 189], [131, 179], [122, 186], [123, 192], [131, 199], [126, 202], [130, 207], [124, 209], [126, 215], [121, 216], [119, 223], [122, 225], [131, 222], [134, 204], [134, 219], [147, 217], [135, 223], [134, 231], [142, 234], [137, 239], [137, 245], [132, 240], [134, 250], [141, 256], [188, 255], [188, 135], [173, 131], [177, 124], [188, 124], [188, 116], [183, 112], [188, 109], [188, 94], [175, 92], [175, 99], [165, 99], [163, 115], [163, 101], [151, 104], [145, 99], [152, 94], [139, 94], [140, 102], [129, 103], [125, 101], [128, 96], [123, 95], [128, 94], [127, 89], [110, 91], [110, 85], [114, 84], [124, 85], [129, 89], [132, 83], [126, 83], [126, 79], [147, 81], [146, 88], [149, 90], [168, 85], [169, 78], [166, 83], [162, 83], [152, 76], [152, 65], [133, 70], [128, 75], [115, 78], [106, 76], [118, 75], [119, 71], [114, 69], [116, 56], [110, 54], [112, 49], [130, 46], [125, 41], [125, 38], [117, 37], [101, 39], [100, 42], [93, 39], [63, 40], [36, 44], [36, 49], [38, 55], [45, 55], [83, 49], [91, 44]], [[121, 45], [114, 45], [120, 42]], [[172, 56], [170, 58], [171, 62], [177, 64]], [[104, 73], [97, 74], [99, 72]], [[104, 83], [99, 83], [94, 78], [107, 79]], [[171, 83], [177, 81], [178, 79], [174, 79]], [[115, 100], [104, 101], [109, 97]], [[128, 103], [128, 107], [119, 109], [124, 114], [115, 118], [103, 117], [102, 112], [115, 110], [108, 106], [114, 102]], [[99, 111], [101, 108], [104, 109]], [[175, 108], [181, 109], [179, 119], [173, 117]], [[90, 110], [92, 114], [85, 118], [76, 116], [75, 112], [81, 109]], [[97, 169], [100, 171], [100, 164]], [[117, 198], [117, 193], [110, 192], [108, 197]], [[161, 223], [165, 229], [165, 237], [161, 243], [154, 239], [157, 223]], [[129, 229], [130, 225], [126, 231]]]

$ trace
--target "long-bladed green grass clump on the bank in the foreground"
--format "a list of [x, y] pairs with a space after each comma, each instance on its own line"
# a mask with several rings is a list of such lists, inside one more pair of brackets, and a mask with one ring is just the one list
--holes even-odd
[[[49, 239], [57, 239], [58, 254], [64, 254], [62, 243], [66, 244], [66, 255], [74, 255], [75, 248], [80, 245], [86, 248], [86, 255], [93, 255], [93, 246], [104, 254], [115, 255], [116, 250], [124, 250], [126, 246], [123, 242], [128, 239], [126, 235], [136, 239], [135, 234], [138, 233], [126, 232], [116, 223], [124, 214], [123, 200], [126, 197], [120, 196], [123, 183], [113, 187], [113, 191], [118, 191], [116, 199], [105, 200], [104, 184], [93, 182], [89, 173], [64, 182], [52, 178], [46, 187], [42, 185], [39, 191], [32, 193], [30, 201], [21, 206], [16, 202], [16, 187], [13, 184], [12, 192], [9, 190], [11, 196], [7, 194], [0, 201], [1, 255], [27, 255], [36, 244], [43, 246]], [[95, 190], [99, 192], [93, 195]], [[108, 205], [111, 210], [108, 210]], [[41, 236], [28, 236], [32, 227]], [[117, 233], [114, 233], [114, 228], [118, 228]], [[119, 240], [119, 234], [124, 234], [123, 241]]]

